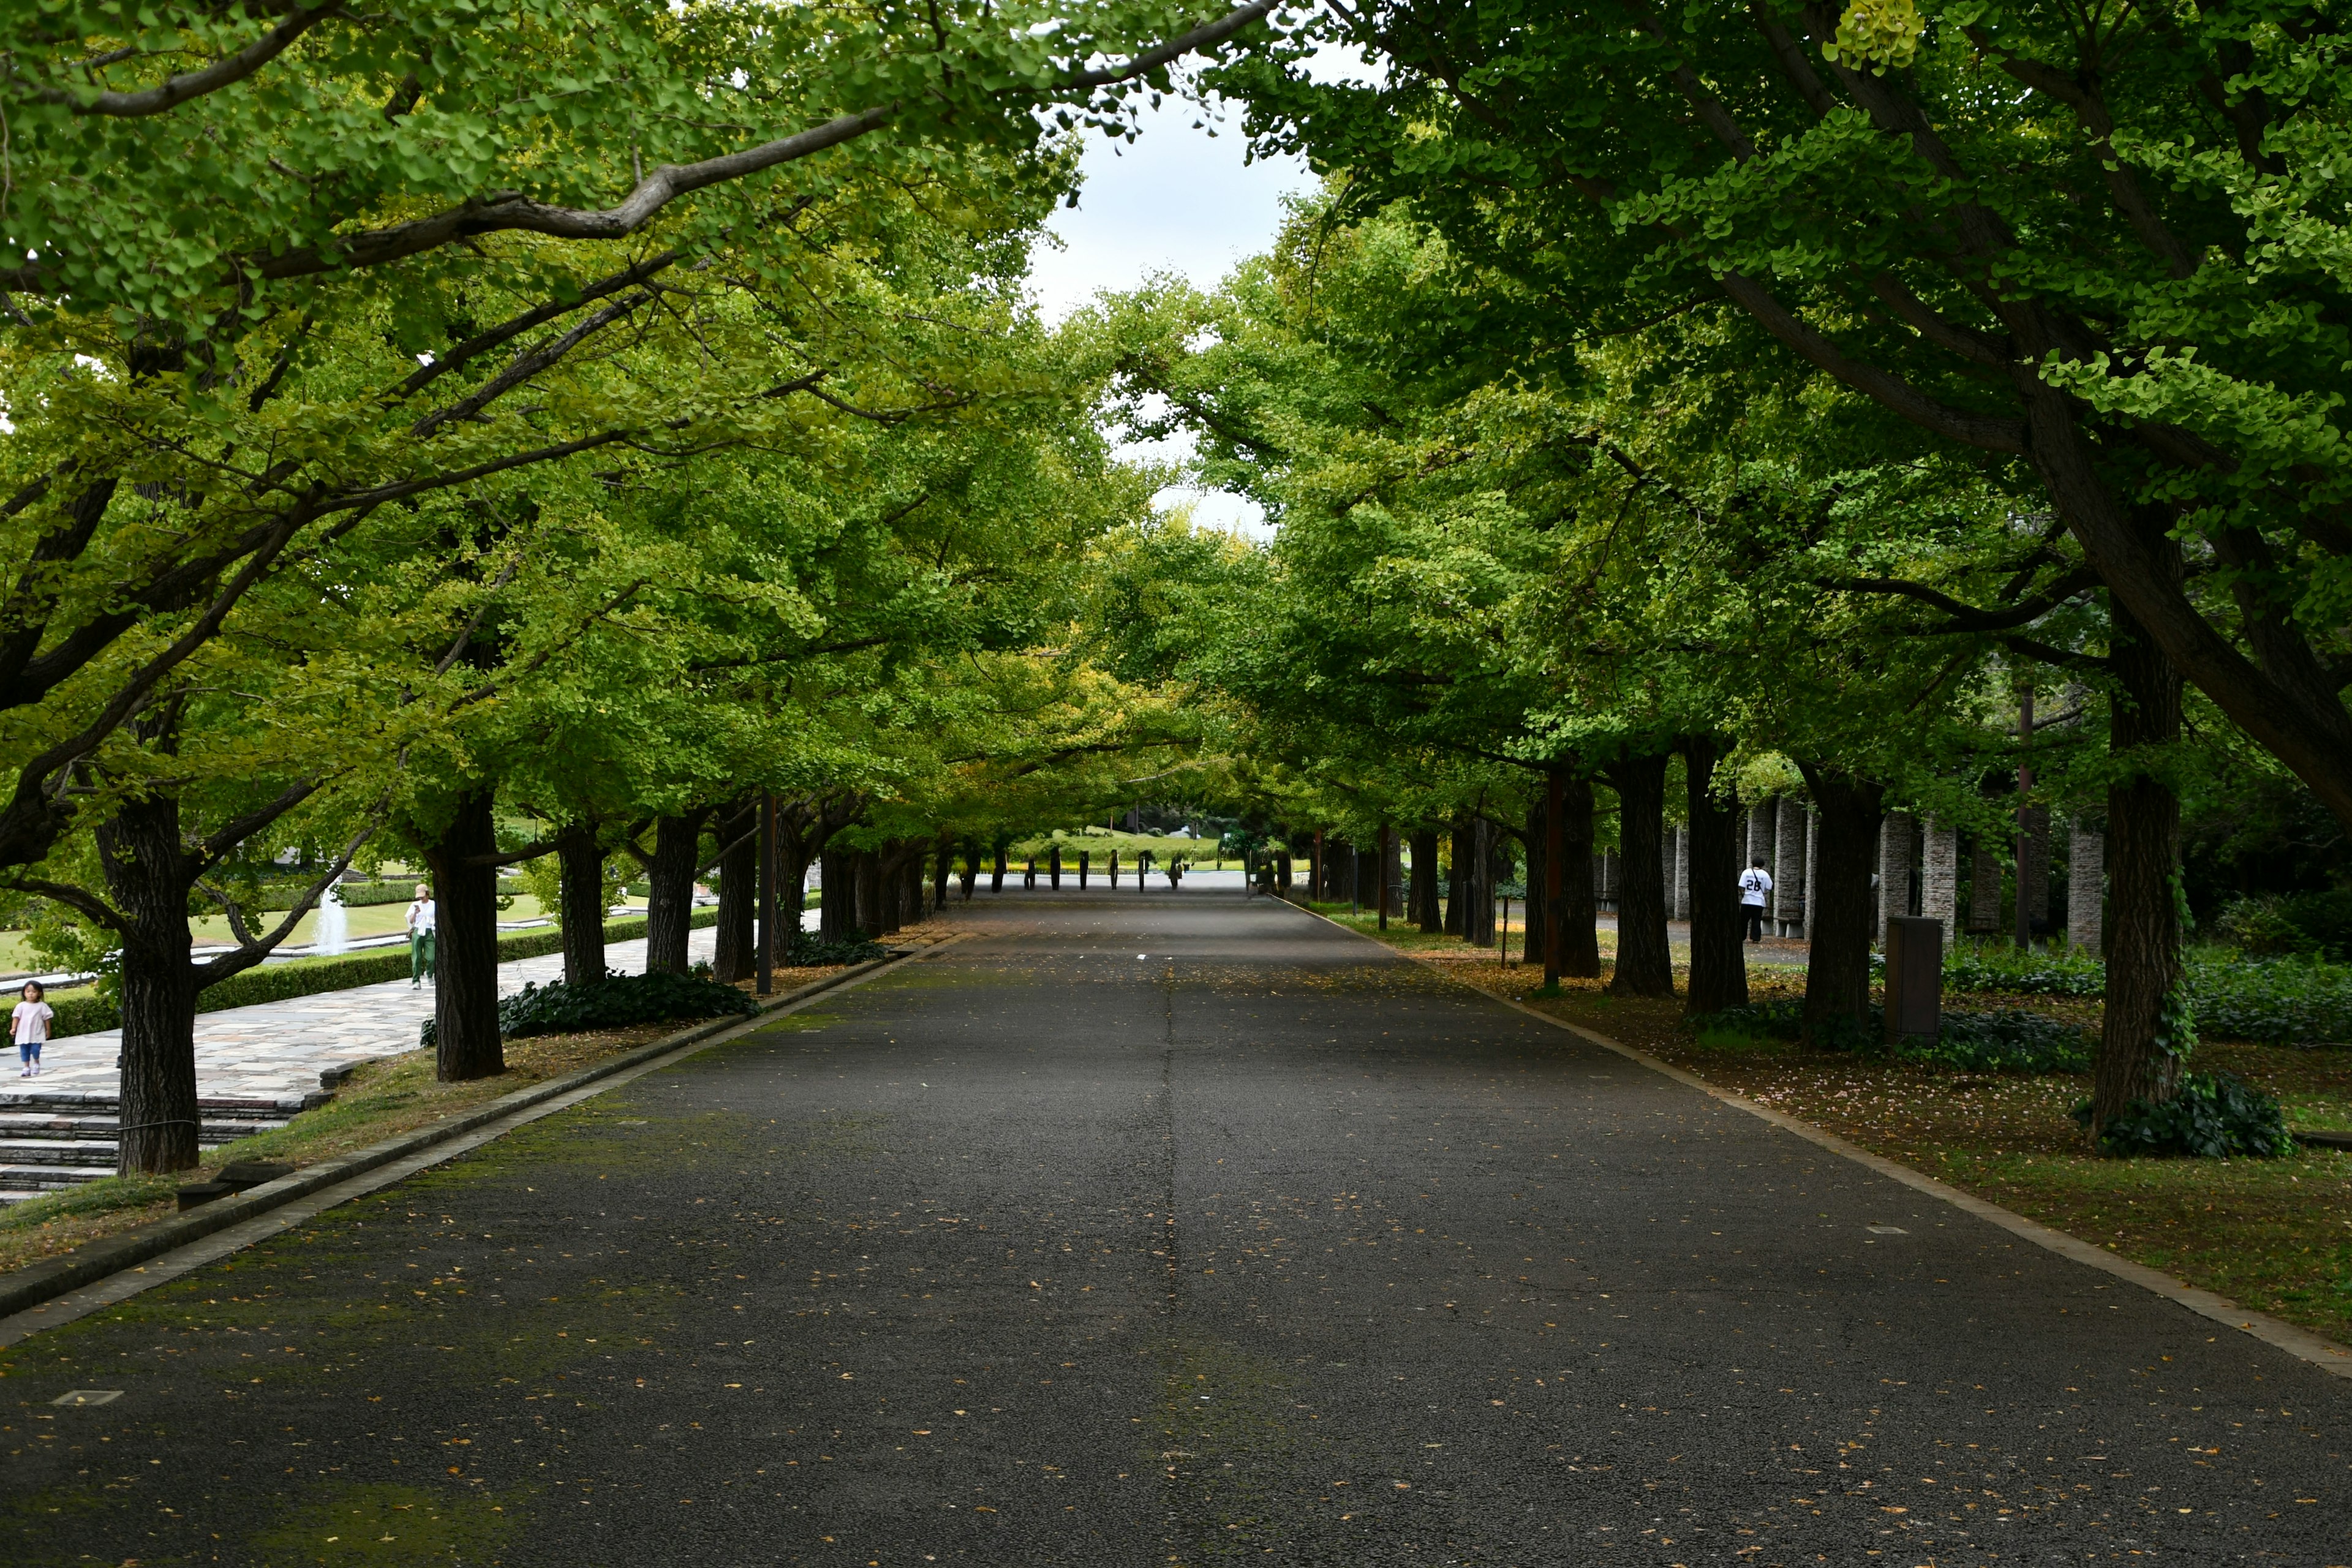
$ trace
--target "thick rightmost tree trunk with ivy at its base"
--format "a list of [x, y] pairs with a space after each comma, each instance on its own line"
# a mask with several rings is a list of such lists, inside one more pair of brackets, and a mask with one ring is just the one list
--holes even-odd
[[2190, 1046], [2164, 1020], [2164, 1004], [2180, 983], [2180, 912], [2173, 900], [2180, 802], [2147, 771], [2154, 762], [2150, 752], [2180, 738], [2180, 670], [2122, 604], [2110, 607], [2110, 616], [2114, 672], [2124, 691], [2107, 729], [2117, 769], [2107, 785], [2107, 891], [2114, 919], [2107, 929], [2107, 1011], [2091, 1088], [2091, 1114], [2100, 1126], [2133, 1100], [2171, 1100], [2180, 1091]]

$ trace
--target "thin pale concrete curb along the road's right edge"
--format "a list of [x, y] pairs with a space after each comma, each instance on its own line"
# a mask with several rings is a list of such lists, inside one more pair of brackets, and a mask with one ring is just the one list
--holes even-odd
[[[1301, 914], [1312, 914], [1315, 919], [1324, 922], [1327, 926], [1338, 926], [1348, 936], [1364, 938], [1367, 943], [1371, 943], [1381, 952], [1388, 952], [1388, 954], [1406, 959], [1411, 964], [1421, 964], [1423, 969], [1432, 969], [1437, 973], [1444, 973], [1442, 964], [1435, 964], [1435, 961], [1423, 959], [1418, 954], [1404, 952], [1402, 947], [1390, 947], [1388, 943], [1383, 943], [1378, 938], [1371, 938], [1371, 936], [1364, 936], [1362, 931], [1357, 931], [1352, 926], [1343, 926], [1341, 922], [1331, 919], [1329, 914], [1319, 914], [1319, 912], [1308, 910], [1303, 905], [1291, 905], [1291, 907], [1301, 910]], [[2034, 1246], [2039, 1246], [2044, 1251], [2051, 1251], [2051, 1253], [2058, 1253], [2060, 1258], [2067, 1258], [2072, 1262], [2082, 1262], [2086, 1267], [2100, 1269], [2103, 1274], [2112, 1274], [2114, 1279], [2131, 1281], [2131, 1284], [2140, 1286], [2143, 1291], [2150, 1291], [2154, 1295], [2161, 1295], [2169, 1302], [2187, 1307], [2197, 1316], [2204, 1316], [2204, 1319], [2211, 1319], [2216, 1324], [2223, 1324], [2225, 1328], [2237, 1328], [2239, 1333], [2249, 1333], [2256, 1340], [2263, 1340], [2265, 1345], [2272, 1345], [2274, 1349], [2284, 1349], [2286, 1354], [2296, 1356], [2298, 1361], [2310, 1361], [2312, 1366], [2317, 1366], [2324, 1373], [2331, 1373], [2336, 1378], [2352, 1378], [2352, 1345], [2338, 1345], [2336, 1340], [2326, 1340], [2326, 1338], [2312, 1333], [2310, 1328], [2296, 1328], [2293, 1324], [2286, 1324], [2281, 1319], [2267, 1316], [2263, 1312], [2249, 1312], [2249, 1309], [2239, 1307], [2237, 1302], [2232, 1302], [2225, 1295], [2216, 1295], [2213, 1291], [2199, 1291], [2197, 1286], [2183, 1284], [2183, 1281], [2173, 1279], [2171, 1274], [2161, 1274], [2161, 1272], [2147, 1267], [2145, 1262], [2131, 1262], [2129, 1258], [2117, 1258], [2107, 1248], [2093, 1246], [2091, 1241], [2084, 1241], [2082, 1237], [2070, 1237], [2063, 1229], [2051, 1229], [2049, 1225], [2042, 1225], [2039, 1220], [2027, 1220], [2025, 1215], [2016, 1213], [2013, 1208], [2002, 1208], [1999, 1204], [1987, 1204], [1980, 1197], [1973, 1197], [1969, 1192], [1962, 1192], [1959, 1187], [1940, 1182], [1933, 1175], [1926, 1175], [1924, 1171], [1912, 1171], [1910, 1166], [1898, 1164], [1893, 1159], [1886, 1159], [1884, 1154], [1872, 1154], [1865, 1147], [1846, 1143], [1837, 1133], [1820, 1131], [1811, 1121], [1799, 1121], [1797, 1117], [1790, 1117], [1785, 1112], [1776, 1112], [1769, 1105], [1757, 1105], [1755, 1100], [1750, 1100], [1745, 1095], [1738, 1095], [1738, 1093], [1731, 1093], [1729, 1088], [1717, 1088], [1715, 1084], [1708, 1084], [1705, 1079], [1693, 1077], [1693, 1074], [1684, 1072], [1682, 1067], [1675, 1067], [1672, 1063], [1661, 1063], [1649, 1051], [1635, 1051], [1632, 1046], [1618, 1044], [1618, 1041], [1609, 1039], [1606, 1034], [1595, 1034], [1592, 1030], [1588, 1030], [1588, 1027], [1583, 1027], [1578, 1023], [1569, 1023], [1566, 1018], [1552, 1018], [1550, 1013], [1545, 1013], [1541, 1009], [1531, 1009], [1524, 1001], [1512, 1001], [1510, 997], [1496, 997], [1491, 990], [1482, 990], [1477, 985], [1470, 985], [1468, 980], [1461, 980], [1458, 976], [1446, 976], [1446, 978], [1454, 980], [1456, 985], [1475, 990], [1479, 997], [1486, 997], [1491, 1001], [1501, 1001], [1503, 1006], [1508, 1006], [1508, 1009], [1512, 1009], [1517, 1013], [1526, 1013], [1529, 1018], [1541, 1018], [1543, 1023], [1552, 1025], [1555, 1030], [1566, 1030], [1569, 1034], [1576, 1034], [1585, 1044], [1602, 1046], [1604, 1051], [1616, 1051], [1625, 1060], [1642, 1063], [1651, 1072], [1661, 1072], [1661, 1074], [1675, 1079], [1677, 1084], [1689, 1084], [1691, 1088], [1700, 1091], [1703, 1095], [1708, 1095], [1712, 1100], [1722, 1100], [1724, 1105], [1731, 1105], [1733, 1110], [1743, 1110], [1750, 1117], [1757, 1117], [1759, 1121], [1771, 1121], [1773, 1126], [1778, 1126], [1778, 1128], [1783, 1128], [1788, 1133], [1795, 1133], [1797, 1138], [1804, 1138], [1811, 1145], [1818, 1145], [1818, 1147], [1823, 1147], [1823, 1150], [1828, 1150], [1832, 1154], [1839, 1154], [1842, 1159], [1851, 1159], [1858, 1166], [1867, 1166], [1870, 1171], [1877, 1171], [1886, 1180], [1903, 1182], [1905, 1187], [1910, 1187], [1915, 1192], [1924, 1192], [1924, 1194], [1929, 1194], [1933, 1199], [1940, 1199], [1940, 1201], [1950, 1204], [1952, 1208], [1971, 1213], [1978, 1220], [1990, 1220], [1992, 1225], [1999, 1225], [2002, 1229], [2006, 1229], [2009, 1234], [2018, 1237], [2020, 1241], [2032, 1241]]]

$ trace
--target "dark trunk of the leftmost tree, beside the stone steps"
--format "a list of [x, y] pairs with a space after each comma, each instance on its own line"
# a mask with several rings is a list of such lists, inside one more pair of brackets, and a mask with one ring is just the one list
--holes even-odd
[[179, 799], [127, 802], [99, 827], [99, 865], [122, 931], [120, 1175], [195, 1166], [195, 966], [188, 959], [193, 877]]

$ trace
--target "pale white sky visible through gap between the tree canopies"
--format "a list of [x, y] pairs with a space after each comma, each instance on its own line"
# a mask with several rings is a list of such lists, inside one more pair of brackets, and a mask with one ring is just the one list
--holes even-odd
[[[1192, 129], [1204, 120], [1204, 129]], [[1077, 207], [1051, 223], [1063, 249], [1040, 247], [1030, 287], [1049, 320], [1098, 292], [1141, 287], [1152, 273], [1181, 273], [1214, 289], [1247, 256], [1268, 249], [1282, 226], [1282, 197], [1315, 186], [1296, 158], [1242, 162], [1240, 110], [1218, 125], [1183, 99], [1143, 110], [1136, 141], [1087, 141]], [[1218, 132], [1209, 136], [1209, 132]], [[1183, 456], [1183, 449], [1150, 449]], [[1261, 534], [1265, 512], [1228, 491], [1160, 491], [1160, 505], [1192, 501], [1195, 522]]]

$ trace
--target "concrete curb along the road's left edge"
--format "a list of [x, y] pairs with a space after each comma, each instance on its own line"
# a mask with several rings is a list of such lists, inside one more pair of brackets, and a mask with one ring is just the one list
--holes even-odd
[[760, 1027], [771, 1013], [779, 1013], [797, 1001], [807, 1001], [821, 992], [863, 980], [866, 976], [880, 973], [896, 964], [913, 964], [941, 947], [962, 940], [962, 936], [950, 936], [929, 947], [917, 947], [915, 952], [901, 952], [887, 959], [868, 959], [866, 964], [851, 964], [837, 973], [821, 980], [809, 980], [807, 985], [793, 987], [781, 997], [767, 997], [760, 1001], [760, 1011], [729, 1018], [710, 1018], [677, 1034], [666, 1034], [652, 1044], [635, 1046], [633, 1051], [621, 1051], [619, 1056], [607, 1056], [600, 1063], [590, 1063], [576, 1072], [567, 1072], [543, 1084], [532, 1084], [529, 1088], [517, 1088], [515, 1093], [499, 1095], [485, 1105], [475, 1105], [468, 1112], [435, 1121], [433, 1126], [421, 1126], [414, 1133], [400, 1133], [397, 1138], [386, 1138], [365, 1150], [353, 1150], [336, 1159], [320, 1161], [315, 1166], [303, 1166], [294, 1175], [252, 1187], [238, 1197], [226, 1197], [214, 1204], [205, 1204], [183, 1215], [169, 1220], [155, 1220], [153, 1225], [141, 1225], [139, 1229], [127, 1229], [120, 1237], [106, 1237], [103, 1241], [92, 1241], [89, 1246], [78, 1246], [59, 1258], [45, 1258], [31, 1267], [16, 1269], [12, 1274], [0, 1274], [0, 1319], [14, 1316], [28, 1307], [38, 1307], [47, 1300], [80, 1291], [101, 1279], [120, 1274], [125, 1269], [139, 1267], [162, 1253], [181, 1248], [191, 1241], [202, 1241], [216, 1232], [242, 1225], [256, 1215], [263, 1215], [285, 1204], [310, 1197], [339, 1182], [348, 1182], [355, 1175], [376, 1171], [397, 1159], [407, 1159], [435, 1145], [463, 1138], [475, 1128], [492, 1121], [513, 1117], [515, 1112], [543, 1105], [546, 1100], [557, 1100], [588, 1084], [609, 1079], [614, 1074], [628, 1072], [630, 1067], [659, 1063], [666, 1056], [684, 1056], [701, 1046], [708, 1046], [722, 1037], [741, 1034]]

